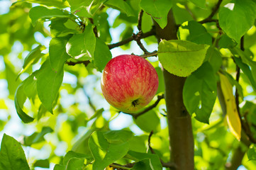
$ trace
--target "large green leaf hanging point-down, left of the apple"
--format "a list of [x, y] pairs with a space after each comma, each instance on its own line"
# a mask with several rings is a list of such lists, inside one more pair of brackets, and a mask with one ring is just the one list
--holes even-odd
[[62, 84], [64, 76], [63, 65], [57, 70], [52, 69], [50, 60], [46, 60], [38, 70], [36, 75], [36, 85], [38, 97], [43, 106], [52, 113], [54, 101], [57, 99], [57, 94]]

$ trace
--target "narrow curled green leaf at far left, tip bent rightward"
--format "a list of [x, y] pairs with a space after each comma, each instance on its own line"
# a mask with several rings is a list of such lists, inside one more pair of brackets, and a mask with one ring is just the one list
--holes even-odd
[[16, 93], [14, 96], [14, 104], [15, 104], [16, 111], [18, 113], [18, 117], [21, 118], [23, 123], [30, 123], [30, 122], [33, 122], [34, 118], [30, 117], [29, 115], [27, 115], [27, 113], [25, 113], [22, 110], [23, 104], [25, 103], [25, 101], [26, 101], [26, 94], [24, 94], [23, 84], [21, 83], [16, 90]]

